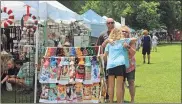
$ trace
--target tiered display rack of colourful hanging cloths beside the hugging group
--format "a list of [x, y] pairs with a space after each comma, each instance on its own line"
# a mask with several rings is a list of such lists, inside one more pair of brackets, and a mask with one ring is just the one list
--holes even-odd
[[39, 102], [98, 103], [102, 73], [100, 47], [49, 47], [39, 75]]

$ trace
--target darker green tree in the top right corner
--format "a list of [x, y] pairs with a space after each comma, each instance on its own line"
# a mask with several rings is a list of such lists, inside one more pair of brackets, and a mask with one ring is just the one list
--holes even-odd
[[160, 21], [167, 27], [168, 34], [175, 29], [181, 29], [181, 1], [160, 1]]

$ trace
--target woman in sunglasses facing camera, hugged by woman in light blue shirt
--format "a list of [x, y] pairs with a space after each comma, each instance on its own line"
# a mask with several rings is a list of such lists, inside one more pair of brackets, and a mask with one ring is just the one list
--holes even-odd
[[[128, 26], [122, 26], [121, 31], [124, 35], [125, 38], [131, 38], [130, 36], [130, 29]], [[137, 39], [138, 40], [138, 39]], [[136, 45], [135, 44], [128, 44], [129, 48], [128, 49], [128, 55], [129, 55], [129, 68], [126, 69], [126, 73], [124, 74], [124, 83], [125, 80], [127, 79], [128, 84], [129, 84], [129, 92], [130, 92], [130, 97], [131, 97], [131, 103], [134, 103], [134, 98], [135, 98], [135, 69], [136, 69], [136, 60], [135, 60], [135, 53], [136, 53]], [[124, 101], [124, 93], [125, 93], [125, 87], [124, 83], [122, 86], [123, 92], [122, 92], [122, 99]]]

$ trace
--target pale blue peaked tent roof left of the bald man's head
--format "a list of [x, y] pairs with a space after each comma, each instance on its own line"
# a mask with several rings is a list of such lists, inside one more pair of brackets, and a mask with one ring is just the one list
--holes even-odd
[[105, 23], [106, 20], [103, 19], [100, 15], [98, 15], [93, 10], [88, 10], [84, 14], [81, 15], [84, 20], [89, 20], [91, 23]]

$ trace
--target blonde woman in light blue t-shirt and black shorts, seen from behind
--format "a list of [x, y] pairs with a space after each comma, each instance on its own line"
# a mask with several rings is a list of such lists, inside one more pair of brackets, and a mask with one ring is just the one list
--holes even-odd
[[[108, 43], [108, 42], [111, 43]], [[124, 47], [124, 43], [127, 44], [135, 42], [136, 39], [124, 39], [124, 35], [121, 33], [119, 29], [114, 28], [110, 35], [109, 39], [104, 42], [106, 45], [104, 59], [107, 60], [107, 70], [108, 70], [108, 81], [109, 81], [109, 101], [110, 103], [113, 102], [114, 97], [114, 88], [115, 88], [115, 78], [117, 78], [117, 85], [116, 85], [116, 95], [117, 95], [117, 103], [122, 102], [122, 88], [123, 80], [124, 80], [124, 73], [126, 68], [129, 67], [129, 59], [128, 59], [128, 49], [130, 47]]]

